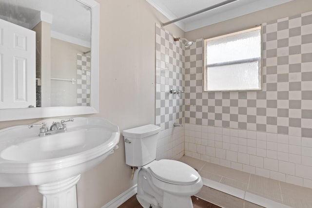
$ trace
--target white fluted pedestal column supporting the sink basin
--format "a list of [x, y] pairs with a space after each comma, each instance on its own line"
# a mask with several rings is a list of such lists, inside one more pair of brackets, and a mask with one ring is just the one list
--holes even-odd
[[43, 195], [42, 208], [77, 208], [76, 184], [80, 174], [58, 182], [37, 186]]

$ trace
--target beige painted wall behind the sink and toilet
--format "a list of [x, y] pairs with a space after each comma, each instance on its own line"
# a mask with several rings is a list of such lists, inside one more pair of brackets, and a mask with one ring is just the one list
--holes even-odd
[[[100, 3], [99, 113], [120, 131], [155, 122], [155, 23], [167, 21], [145, 0], [98, 0]], [[175, 25], [166, 27], [183, 37]], [[0, 129], [39, 119], [0, 122]], [[125, 164], [123, 137], [119, 149], [81, 175], [78, 207], [100, 208], [132, 187]], [[1, 208], [41, 207], [36, 187], [0, 188]]]

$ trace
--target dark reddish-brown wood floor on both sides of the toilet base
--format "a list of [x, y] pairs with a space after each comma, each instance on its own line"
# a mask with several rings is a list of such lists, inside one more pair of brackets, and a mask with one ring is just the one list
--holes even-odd
[[[220, 208], [195, 196], [192, 196], [192, 201], [194, 208]], [[118, 208], [142, 208], [142, 206], [138, 203], [136, 195], [134, 195]]]

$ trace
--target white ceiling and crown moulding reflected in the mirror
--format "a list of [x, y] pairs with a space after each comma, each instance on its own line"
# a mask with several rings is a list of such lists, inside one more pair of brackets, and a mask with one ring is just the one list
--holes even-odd
[[77, 0], [0, 0], [0, 19], [32, 29], [51, 23], [51, 37], [90, 47], [91, 9]]

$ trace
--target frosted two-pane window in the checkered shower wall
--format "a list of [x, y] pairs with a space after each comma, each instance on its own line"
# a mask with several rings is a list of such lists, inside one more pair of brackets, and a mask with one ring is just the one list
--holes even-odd
[[205, 39], [205, 91], [261, 90], [261, 26]]

